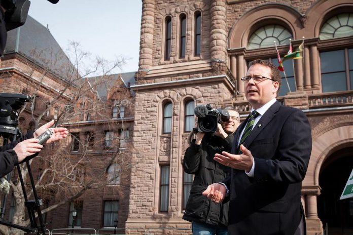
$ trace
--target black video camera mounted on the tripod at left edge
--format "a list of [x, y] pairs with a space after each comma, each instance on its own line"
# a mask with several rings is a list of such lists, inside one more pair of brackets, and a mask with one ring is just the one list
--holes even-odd
[[17, 133], [17, 110], [20, 109], [25, 102], [32, 102], [32, 98], [22, 94], [0, 93], [0, 135], [2, 133]]

